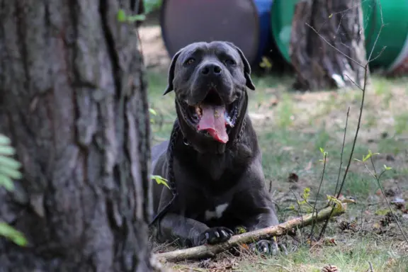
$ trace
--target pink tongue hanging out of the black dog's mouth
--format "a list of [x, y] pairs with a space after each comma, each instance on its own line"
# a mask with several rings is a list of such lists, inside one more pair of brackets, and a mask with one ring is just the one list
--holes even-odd
[[198, 130], [207, 130], [218, 142], [228, 142], [227, 128], [225, 127], [225, 106], [201, 105], [202, 116], [198, 122]]

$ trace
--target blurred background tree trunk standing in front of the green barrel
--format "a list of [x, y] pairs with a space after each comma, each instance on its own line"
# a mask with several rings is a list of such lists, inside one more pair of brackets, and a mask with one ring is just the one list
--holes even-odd
[[293, 17], [290, 59], [298, 89], [342, 88], [353, 82], [362, 87], [361, 65], [366, 60], [361, 0], [300, 0]]

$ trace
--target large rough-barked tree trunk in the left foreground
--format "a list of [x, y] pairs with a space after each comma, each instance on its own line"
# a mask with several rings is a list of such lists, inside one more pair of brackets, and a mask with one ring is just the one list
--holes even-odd
[[0, 132], [23, 179], [0, 189], [0, 271], [152, 271], [147, 90], [137, 1], [0, 0]]

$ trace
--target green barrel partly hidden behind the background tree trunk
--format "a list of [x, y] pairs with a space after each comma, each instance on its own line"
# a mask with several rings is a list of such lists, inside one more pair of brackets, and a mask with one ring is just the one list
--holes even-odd
[[[299, 0], [275, 0], [271, 8], [271, 30], [273, 39], [287, 62], [290, 62], [289, 44], [295, 5]], [[363, 27], [367, 57], [375, 43], [381, 27], [379, 0], [361, 0]], [[371, 65], [384, 67], [389, 72], [398, 69], [408, 56], [408, 0], [382, 0], [382, 18], [385, 26], [374, 47], [372, 59], [382, 51]]]

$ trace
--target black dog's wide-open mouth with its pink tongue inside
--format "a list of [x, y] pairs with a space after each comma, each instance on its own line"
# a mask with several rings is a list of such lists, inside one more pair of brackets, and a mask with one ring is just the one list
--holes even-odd
[[[188, 106], [184, 117], [198, 132], [210, 135], [218, 142], [228, 142], [228, 133], [237, 119], [237, 101], [225, 105], [215, 89], [211, 89], [203, 101], [196, 106]], [[184, 107], [182, 107], [184, 108]]]

